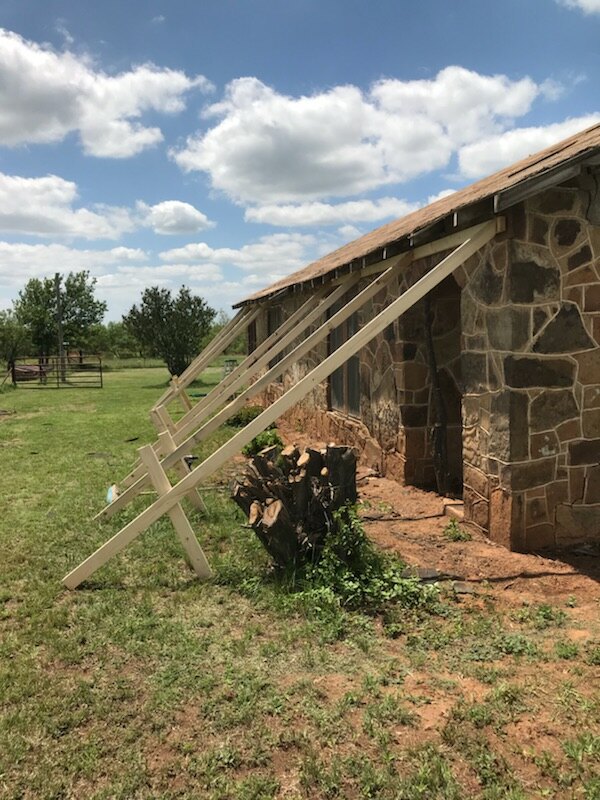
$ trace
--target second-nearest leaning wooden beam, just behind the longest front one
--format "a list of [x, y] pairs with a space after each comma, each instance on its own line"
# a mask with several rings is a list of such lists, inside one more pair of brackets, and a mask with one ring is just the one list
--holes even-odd
[[[345, 306], [343, 306], [336, 314], [333, 315], [333, 317], [323, 323], [320, 328], [317, 328], [317, 330], [311, 333], [310, 336], [300, 342], [300, 344], [297, 345], [297, 347], [295, 347], [291, 353], [288, 353], [281, 359], [281, 361], [278, 361], [277, 364], [271, 367], [268, 372], [266, 372], [264, 375], [261, 375], [258, 380], [256, 380], [251, 386], [242, 392], [242, 394], [236, 397], [235, 400], [232, 400], [229, 405], [225, 406], [225, 408], [222, 409], [218, 414], [205, 422], [200, 429], [198, 429], [196, 420], [191, 420], [184, 427], [180, 428], [176, 433], [174, 433], [173, 438], [177, 442], [178, 447], [176, 450], [166, 456], [166, 458], [161, 462], [163, 467], [168, 469], [170, 466], [172, 466], [175, 459], [182, 458], [182, 456], [189, 452], [194, 445], [199, 444], [208, 438], [233, 414], [239, 411], [239, 409], [242, 408], [248, 400], [250, 400], [252, 397], [255, 397], [272, 381], [276, 380], [280, 375], [282, 375], [291, 364], [295, 363], [299, 358], [312, 350], [315, 345], [324, 341], [334, 328], [337, 328], [338, 325], [341, 325], [342, 322], [344, 322], [355, 311], [361, 308], [367, 302], [367, 300], [370, 300], [378, 292], [380, 292], [381, 289], [386, 286], [386, 284], [396, 274], [399, 266], [401, 264], [406, 264], [408, 261], [410, 261], [410, 258], [410, 255], [405, 255], [403, 256], [402, 260], [395, 260], [394, 267], [390, 267], [387, 272], [383, 273], [383, 275], [379, 275], [377, 278], [375, 278], [375, 280], [373, 280], [367, 287], [359, 292], [356, 297], [353, 297], [350, 301], [348, 301]], [[352, 279], [349, 279], [349, 284], [355, 285], [359, 277], [360, 276], [356, 275]], [[346, 294], [347, 290], [348, 284], [344, 286], [338, 286], [338, 288], [327, 297], [327, 302], [337, 302]], [[187, 436], [188, 438], [181, 441], [182, 437], [184, 436]], [[102, 511], [96, 514], [94, 519], [107, 519], [112, 517], [122, 508], [125, 508], [125, 506], [131, 502], [131, 500], [133, 500], [133, 498], [136, 497], [136, 495], [138, 495], [145, 486], [147, 486], [148, 479], [145, 475], [143, 465], [137, 467], [132, 474], [137, 476], [137, 480], [135, 480], [134, 483], [130, 483], [129, 486], [125, 488], [125, 491], [121, 492], [116, 500], [113, 500], [112, 503], [105, 506]]]

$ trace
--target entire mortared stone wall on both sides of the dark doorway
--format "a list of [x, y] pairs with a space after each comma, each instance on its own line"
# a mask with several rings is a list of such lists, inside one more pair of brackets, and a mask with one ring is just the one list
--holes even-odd
[[[448, 413], [450, 474], [466, 518], [515, 550], [600, 541], [600, 199], [594, 181], [507, 213], [505, 234], [430, 295]], [[590, 188], [591, 187], [591, 188]], [[360, 325], [442, 255], [416, 262], [359, 313]], [[283, 302], [284, 315], [305, 299]], [[327, 355], [324, 343], [271, 397]], [[434, 487], [436, 421], [420, 302], [360, 357], [360, 419], [328, 411], [326, 385], [290, 419], [357, 446], [402, 483]]]

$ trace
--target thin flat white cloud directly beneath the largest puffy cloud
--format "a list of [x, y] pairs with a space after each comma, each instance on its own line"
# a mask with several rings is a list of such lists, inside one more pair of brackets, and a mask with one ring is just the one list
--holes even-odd
[[249, 208], [247, 222], [262, 222], [282, 227], [308, 225], [340, 225], [351, 222], [376, 222], [388, 217], [402, 217], [418, 208], [396, 197], [379, 200], [352, 200], [347, 203], [301, 203], [300, 205], [265, 205]]

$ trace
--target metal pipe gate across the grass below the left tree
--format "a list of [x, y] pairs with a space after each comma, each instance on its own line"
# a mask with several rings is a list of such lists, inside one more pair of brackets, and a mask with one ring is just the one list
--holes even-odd
[[18, 358], [11, 364], [15, 386], [29, 389], [101, 389], [102, 359], [99, 356], [50, 356]]

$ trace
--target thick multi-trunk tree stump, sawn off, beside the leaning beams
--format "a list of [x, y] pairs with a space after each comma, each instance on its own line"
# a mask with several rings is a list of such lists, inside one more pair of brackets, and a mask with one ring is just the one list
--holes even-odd
[[334, 511], [356, 502], [356, 455], [334, 444], [267, 447], [234, 481], [232, 497], [276, 565], [314, 561]]

